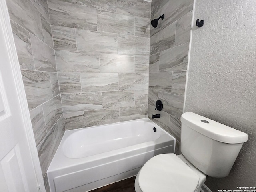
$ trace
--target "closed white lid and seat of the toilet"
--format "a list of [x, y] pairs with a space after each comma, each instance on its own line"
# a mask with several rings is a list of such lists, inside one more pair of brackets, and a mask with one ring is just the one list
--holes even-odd
[[143, 192], [195, 192], [198, 182], [198, 174], [175, 154], [154, 156], [138, 175], [138, 184]]

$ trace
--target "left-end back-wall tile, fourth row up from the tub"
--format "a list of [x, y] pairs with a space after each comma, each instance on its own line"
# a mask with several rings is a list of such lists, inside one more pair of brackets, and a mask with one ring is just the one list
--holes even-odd
[[100, 72], [97, 53], [55, 51], [58, 72]]

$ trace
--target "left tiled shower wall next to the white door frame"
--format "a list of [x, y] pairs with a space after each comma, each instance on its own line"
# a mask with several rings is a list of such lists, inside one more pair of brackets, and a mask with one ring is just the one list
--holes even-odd
[[47, 1], [6, 0], [42, 174], [64, 134]]

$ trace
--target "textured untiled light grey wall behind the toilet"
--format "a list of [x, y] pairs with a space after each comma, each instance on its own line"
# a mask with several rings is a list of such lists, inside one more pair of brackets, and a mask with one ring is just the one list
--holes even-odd
[[249, 137], [230, 175], [205, 184], [213, 192], [256, 186], [256, 1], [196, 0], [194, 10], [184, 110]]

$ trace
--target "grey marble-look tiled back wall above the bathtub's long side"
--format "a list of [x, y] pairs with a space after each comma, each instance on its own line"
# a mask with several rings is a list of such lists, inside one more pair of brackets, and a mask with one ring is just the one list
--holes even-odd
[[66, 130], [146, 118], [150, 2], [48, 0]]

